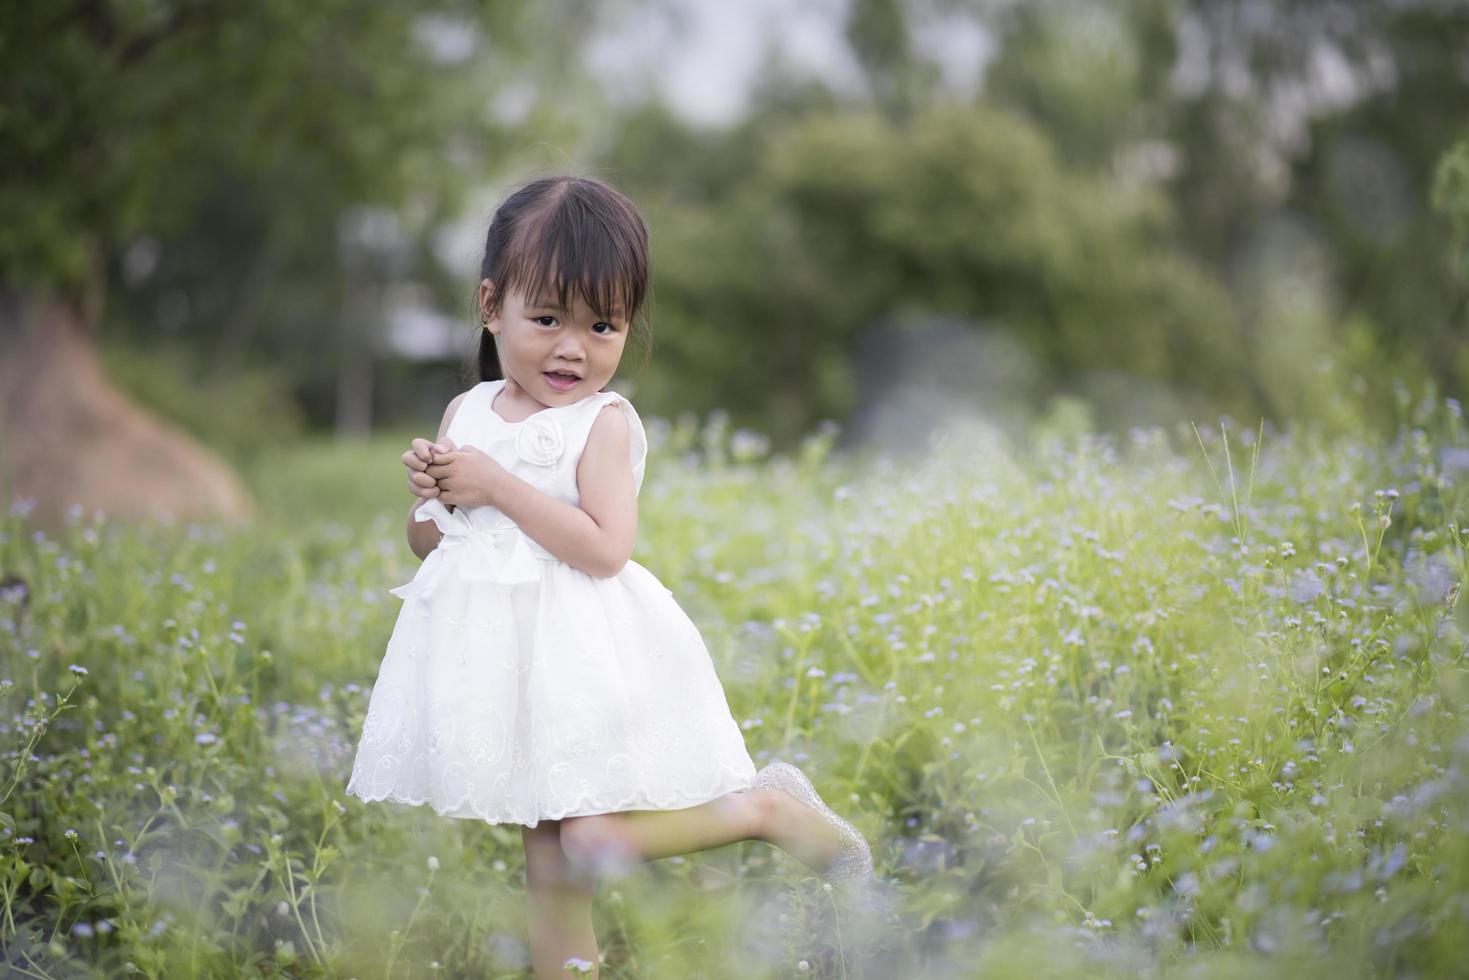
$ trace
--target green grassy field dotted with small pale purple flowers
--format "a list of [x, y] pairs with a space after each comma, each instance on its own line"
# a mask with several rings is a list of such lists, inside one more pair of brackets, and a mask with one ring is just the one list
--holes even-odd
[[[596, 904], [605, 977], [1463, 976], [1469, 433], [953, 428], [793, 455], [649, 420], [635, 558], [868, 893], [743, 843]], [[520, 833], [342, 792], [416, 560], [404, 438], [269, 517], [0, 541], [13, 976], [527, 976]]]

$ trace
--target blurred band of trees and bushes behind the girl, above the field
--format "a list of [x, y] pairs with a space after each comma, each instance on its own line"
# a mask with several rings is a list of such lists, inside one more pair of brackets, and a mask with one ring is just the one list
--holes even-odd
[[[476, 381], [489, 209], [564, 170], [654, 232], [654, 356], [614, 383], [777, 448], [918, 395], [1121, 426], [1353, 386], [1384, 417], [1328, 422], [1387, 428], [1394, 381], [1463, 391], [1462, 4], [818, 6], [851, 76], [776, 21], [710, 123], [586, 54], [689, 1], [7, 4], [0, 291], [75, 303], [120, 385], [237, 461], [426, 432]], [[439, 339], [405, 356], [414, 325]]]

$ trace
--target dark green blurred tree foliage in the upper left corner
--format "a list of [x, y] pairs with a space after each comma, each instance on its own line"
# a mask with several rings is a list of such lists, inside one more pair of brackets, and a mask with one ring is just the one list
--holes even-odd
[[220, 195], [279, 225], [300, 216], [291, 197], [452, 210], [499, 129], [474, 91], [494, 78], [483, 37], [436, 44], [474, 25], [508, 60], [523, 4], [6, 4], [0, 282], [97, 288], [135, 237], [178, 234]]

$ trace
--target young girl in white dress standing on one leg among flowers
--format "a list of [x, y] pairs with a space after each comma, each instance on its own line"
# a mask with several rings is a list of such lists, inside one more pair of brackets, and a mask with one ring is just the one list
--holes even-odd
[[640, 215], [599, 181], [535, 181], [480, 276], [483, 381], [403, 455], [426, 557], [392, 589], [347, 792], [520, 824], [538, 977], [598, 962], [596, 880], [639, 861], [754, 839], [865, 879], [867, 842], [801, 770], [755, 771], [698, 629], [630, 558], [648, 439], [605, 385], [646, 329]]

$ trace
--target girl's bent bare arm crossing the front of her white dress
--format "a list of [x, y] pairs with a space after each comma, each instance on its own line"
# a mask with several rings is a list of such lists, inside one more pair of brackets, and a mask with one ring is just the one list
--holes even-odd
[[604, 406], [576, 464], [580, 507], [549, 497], [501, 467], [489, 488], [491, 500], [557, 558], [593, 577], [610, 579], [632, 558], [638, 536], [638, 488], [629, 444], [627, 419], [617, 406]]

